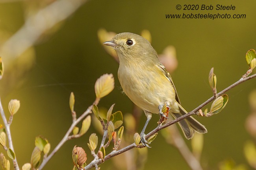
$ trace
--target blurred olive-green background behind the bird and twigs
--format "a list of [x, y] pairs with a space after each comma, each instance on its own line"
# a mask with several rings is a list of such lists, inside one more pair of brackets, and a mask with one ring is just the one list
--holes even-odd
[[[1, 45], [23, 26], [29, 16], [53, 2], [54, 0], [0, 1]], [[178, 11], [177, 4], [182, 7], [185, 4], [232, 4], [236, 9]], [[172, 73], [172, 77], [183, 107], [190, 111], [212, 96], [208, 84], [208, 74], [212, 67], [217, 76], [217, 91], [239, 80], [248, 70], [245, 54], [249, 49], [256, 48], [255, 5], [255, 0], [90, 0], [66, 20], [43, 32], [33, 47], [20, 57], [13, 59], [1, 54], [4, 62], [8, 63], [4, 78], [0, 81], [0, 96], [7, 117], [8, 102], [19, 99], [21, 103], [11, 124], [19, 165], [30, 162], [37, 135], [46, 137], [52, 149], [59, 143], [72, 123], [70, 92], [74, 92], [75, 111], [80, 115], [95, 100], [94, 84], [104, 73], [113, 73], [115, 89], [100, 101], [99, 107], [109, 108], [115, 103], [114, 111], [121, 110], [124, 114], [132, 112], [132, 102], [121, 94], [119, 88], [118, 64], [104, 51], [98, 40], [97, 31], [100, 28], [116, 33], [136, 34], [147, 29], [152, 35], [152, 46], [158, 53], [166, 46], [173, 45], [176, 48], [178, 68]], [[245, 14], [246, 18], [212, 20], [165, 17], [165, 14], [182, 13]], [[217, 170], [220, 162], [227, 159], [250, 169], [243, 146], [247, 140], [252, 139], [245, 129], [245, 120], [251, 112], [248, 96], [256, 89], [255, 85], [256, 79], [252, 79], [228, 91], [229, 101], [221, 113], [209, 118], [197, 118], [208, 129], [208, 133], [204, 135], [201, 162], [206, 169]], [[208, 108], [210, 109], [210, 105]], [[158, 119], [158, 115], [153, 117], [147, 128], [148, 132], [157, 126]], [[141, 132], [145, 120], [146, 117], [142, 115], [136, 132]], [[129, 129], [125, 128], [125, 131]], [[44, 169], [72, 169], [71, 153], [74, 145], [85, 149], [89, 163], [93, 158], [87, 143], [93, 132], [96, 131], [91, 126], [83, 137], [64, 144]], [[186, 143], [190, 146], [190, 141]], [[161, 135], [158, 135], [151, 146], [145, 169], [189, 169], [176, 148], [167, 144]], [[2, 148], [0, 151], [4, 152]], [[5, 152], [4, 154], [6, 155]], [[105, 170], [112, 166], [111, 160], [100, 165]]]

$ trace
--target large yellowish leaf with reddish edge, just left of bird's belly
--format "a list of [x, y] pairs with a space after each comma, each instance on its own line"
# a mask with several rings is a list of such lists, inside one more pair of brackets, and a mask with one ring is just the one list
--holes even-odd
[[108, 95], [114, 89], [113, 74], [104, 74], [95, 82], [95, 94], [97, 98], [102, 98]]

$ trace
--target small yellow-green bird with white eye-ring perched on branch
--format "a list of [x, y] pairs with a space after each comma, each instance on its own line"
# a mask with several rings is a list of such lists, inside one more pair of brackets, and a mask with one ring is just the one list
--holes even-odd
[[[140, 134], [141, 143], [148, 146], [145, 129], [152, 113], [162, 112], [167, 103], [174, 118], [187, 114], [182, 108], [176, 88], [169, 73], [158, 59], [157, 53], [145, 38], [134, 33], [117, 34], [111, 41], [103, 43], [111, 46], [119, 57], [118, 79], [124, 93], [145, 112], [147, 121]], [[195, 132], [207, 133], [204, 125], [193, 117], [178, 122], [187, 139]]]

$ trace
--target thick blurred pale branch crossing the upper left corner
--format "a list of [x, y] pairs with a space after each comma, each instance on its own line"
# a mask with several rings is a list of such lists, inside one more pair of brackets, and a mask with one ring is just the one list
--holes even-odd
[[[68, 18], [87, 0], [58, 0], [26, 19], [24, 25], [0, 49], [1, 56], [16, 58], [33, 46], [40, 36]], [[6, 60], [7, 62], [7, 60]]]

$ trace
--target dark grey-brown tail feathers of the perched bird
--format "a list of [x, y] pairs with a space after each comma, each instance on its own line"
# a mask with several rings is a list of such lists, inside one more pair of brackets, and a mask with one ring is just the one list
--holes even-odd
[[[172, 115], [174, 116], [174, 118], [178, 118], [182, 115], [187, 114], [187, 111], [184, 108], [182, 108], [180, 104], [178, 105], [180, 113], [173, 113]], [[182, 128], [182, 131], [187, 139], [191, 139], [194, 136], [195, 132], [207, 133], [207, 129], [205, 128], [205, 126], [193, 117], [187, 117], [186, 119], [183, 119], [182, 121], [178, 122], [178, 124]]]

